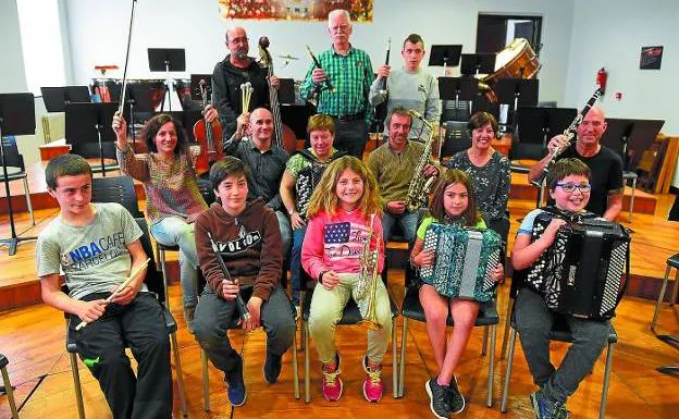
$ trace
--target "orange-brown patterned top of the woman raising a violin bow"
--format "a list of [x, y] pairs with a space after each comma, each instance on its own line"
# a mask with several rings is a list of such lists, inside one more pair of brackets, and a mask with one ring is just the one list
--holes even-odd
[[146, 214], [151, 224], [166, 217], [178, 217], [194, 222], [208, 205], [196, 180], [194, 163], [199, 148], [190, 147], [188, 152], [166, 162], [155, 153], [135, 156], [127, 145], [124, 150], [115, 148], [121, 172], [144, 184], [146, 192]]

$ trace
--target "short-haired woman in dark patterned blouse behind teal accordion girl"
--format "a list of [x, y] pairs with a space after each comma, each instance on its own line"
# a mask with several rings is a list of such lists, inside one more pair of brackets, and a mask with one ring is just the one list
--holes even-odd
[[445, 165], [469, 175], [483, 221], [506, 242], [509, 233], [507, 201], [511, 176], [509, 160], [492, 145], [497, 133], [497, 121], [487, 112], [477, 112], [469, 120], [467, 130], [471, 136], [471, 147], [457, 152]]

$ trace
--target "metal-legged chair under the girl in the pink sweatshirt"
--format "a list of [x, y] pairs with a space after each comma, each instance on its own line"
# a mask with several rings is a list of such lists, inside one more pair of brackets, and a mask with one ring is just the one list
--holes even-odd
[[[384, 283], [384, 286], [387, 285], [386, 282], [386, 270], [387, 270], [388, 263], [386, 258], [384, 259], [384, 270], [382, 271], [382, 282]], [[309, 275], [304, 271], [301, 271], [301, 284], [300, 284], [300, 291], [304, 293], [303, 294], [303, 298], [301, 298], [301, 321], [303, 321], [303, 328], [301, 328], [301, 333], [303, 333], [303, 342], [304, 342], [304, 349], [305, 349], [305, 402], [306, 403], [310, 403], [311, 402], [311, 395], [310, 395], [310, 371], [309, 371], [309, 361], [310, 361], [310, 356], [309, 356], [309, 311], [311, 309], [311, 298], [313, 297], [313, 286], [309, 287], [309, 284], [313, 284], [316, 285], [316, 281], [312, 281]], [[387, 288], [388, 291], [388, 288]], [[390, 306], [392, 309], [392, 322], [394, 322], [394, 319], [398, 316], [398, 306], [396, 306], [396, 303], [394, 303], [394, 299], [392, 298], [392, 295], [390, 294]], [[349, 298], [349, 300], [347, 301], [347, 305], [344, 307], [344, 311], [342, 312], [342, 319], [340, 319], [340, 321], [337, 322], [337, 325], [342, 325], [342, 324], [358, 324], [360, 322], [363, 321], [363, 318], [360, 313], [360, 310], [358, 308], [358, 305], [356, 304], [356, 301], [354, 301], [354, 298]], [[392, 326], [392, 385], [394, 387], [394, 398], [398, 397], [397, 394], [397, 389], [398, 389], [398, 366], [396, 363], [396, 324], [393, 324]]]

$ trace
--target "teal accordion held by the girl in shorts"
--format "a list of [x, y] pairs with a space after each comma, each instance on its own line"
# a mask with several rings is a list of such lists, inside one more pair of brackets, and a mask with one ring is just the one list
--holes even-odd
[[432, 223], [423, 250], [433, 250], [435, 260], [420, 269], [420, 278], [443, 296], [489, 301], [495, 289], [490, 272], [501, 248], [502, 238], [492, 230]]

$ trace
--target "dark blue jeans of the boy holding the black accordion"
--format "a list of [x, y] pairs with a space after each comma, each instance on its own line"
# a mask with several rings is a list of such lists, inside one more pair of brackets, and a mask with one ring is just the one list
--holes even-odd
[[610, 323], [564, 317], [573, 343], [555, 369], [550, 360], [550, 330], [559, 315], [552, 312], [539, 294], [521, 288], [516, 298], [515, 318], [533, 382], [548, 398], [566, 403], [604, 350]]

